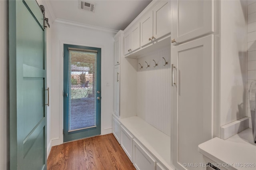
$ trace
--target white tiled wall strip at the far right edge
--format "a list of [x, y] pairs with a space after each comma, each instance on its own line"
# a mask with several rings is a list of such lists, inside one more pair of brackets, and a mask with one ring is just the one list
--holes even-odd
[[[247, 91], [250, 89], [250, 84], [256, 80], [256, 0], [248, 1], [247, 6], [248, 25], [247, 25]], [[252, 128], [251, 113], [250, 113], [250, 99], [247, 93], [247, 117], [250, 117], [249, 127]]]

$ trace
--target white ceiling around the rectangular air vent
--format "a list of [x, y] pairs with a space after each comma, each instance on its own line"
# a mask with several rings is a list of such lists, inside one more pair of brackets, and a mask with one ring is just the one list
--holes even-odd
[[56, 18], [124, 30], [152, 0], [84, 0], [94, 3], [95, 13], [78, 9], [78, 0], [50, 0]]

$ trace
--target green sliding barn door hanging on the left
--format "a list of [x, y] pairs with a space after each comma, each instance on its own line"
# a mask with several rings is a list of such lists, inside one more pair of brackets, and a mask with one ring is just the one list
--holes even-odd
[[44, 17], [35, 0], [9, 1], [10, 169], [46, 170]]

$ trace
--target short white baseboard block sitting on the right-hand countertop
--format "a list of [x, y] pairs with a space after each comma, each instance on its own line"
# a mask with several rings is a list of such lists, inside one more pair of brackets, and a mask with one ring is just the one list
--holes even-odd
[[227, 125], [220, 127], [220, 138], [226, 140], [231, 136], [249, 128], [249, 117], [244, 117]]

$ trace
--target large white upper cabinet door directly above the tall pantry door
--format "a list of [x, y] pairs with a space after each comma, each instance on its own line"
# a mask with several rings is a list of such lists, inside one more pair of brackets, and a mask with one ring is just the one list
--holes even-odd
[[214, 32], [214, 0], [172, 0], [171, 6], [174, 44]]

